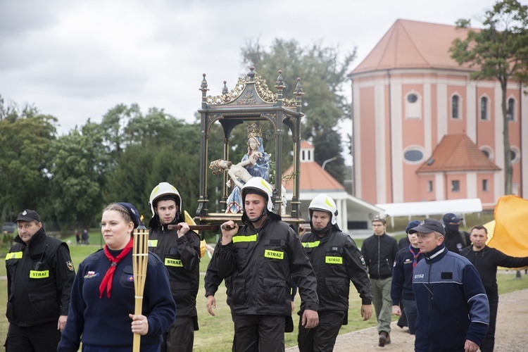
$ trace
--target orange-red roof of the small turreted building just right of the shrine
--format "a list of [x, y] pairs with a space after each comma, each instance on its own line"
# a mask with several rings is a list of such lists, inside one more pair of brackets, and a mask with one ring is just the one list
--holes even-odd
[[[302, 145], [302, 144], [301, 144]], [[284, 175], [290, 175], [294, 170], [294, 165], [291, 165]], [[284, 178], [283, 175], [283, 178]], [[300, 191], [327, 191], [327, 190], [344, 190], [345, 187], [337, 182], [332, 175], [325, 170], [322, 170], [315, 161], [308, 163], [300, 163], [299, 170], [299, 187]], [[294, 182], [284, 182], [284, 188], [287, 191], [293, 191]]]

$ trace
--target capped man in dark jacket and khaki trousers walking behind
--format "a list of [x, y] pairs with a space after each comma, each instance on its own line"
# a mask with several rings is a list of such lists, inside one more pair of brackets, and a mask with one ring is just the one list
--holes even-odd
[[377, 318], [377, 332], [379, 346], [383, 347], [391, 343], [391, 282], [392, 265], [396, 253], [398, 253], [398, 242], [385, 233], [386, 220], [376, 216], [372, 219], [374, 234], [367, 237], [361, 246], [361, 254], [365, 258], [370, 282], [372, 284], [372, 296]]

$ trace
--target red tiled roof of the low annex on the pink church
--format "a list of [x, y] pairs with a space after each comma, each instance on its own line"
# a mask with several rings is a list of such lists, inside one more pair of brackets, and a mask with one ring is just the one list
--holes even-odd
[[[429, 163], [431, 165], [428, 165]], [[489, 161], [467, 135], [448, 134], [442, 138], [431, 158], [420, 165], [416, 173], [493, 170], [501, 168]]]

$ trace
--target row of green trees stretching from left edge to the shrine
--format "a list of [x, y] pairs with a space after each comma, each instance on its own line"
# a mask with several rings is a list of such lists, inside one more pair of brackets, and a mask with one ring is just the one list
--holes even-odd
[[[150, 192], [163, 181], [175, 184], [184, 208], [194, 214], [199, 123], [157, 108], [144, 114], [135, 104], [118, 105], [101, 122], [88, 120], [59, 136], [56, 118], [37, 108], [11, 109], [9, 115], [5, 110], [0, 120], [1, 220], [34, 208], [61, 230], [89, 227], [113, 201], [134, 203], [150, 218]], [[210, 187], [214, 190], [218, 182], [211, 180]]]

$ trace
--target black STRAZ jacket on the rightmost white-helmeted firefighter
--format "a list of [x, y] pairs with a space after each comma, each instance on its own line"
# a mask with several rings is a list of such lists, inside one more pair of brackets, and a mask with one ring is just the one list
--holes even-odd
[[365, 260], [348, 234], [332, 226], [325, 236], [309, 233], [301, 242], [318, 280], [319, 311], [348, 311], [351, 281], [362, 304], [372, 303]]

